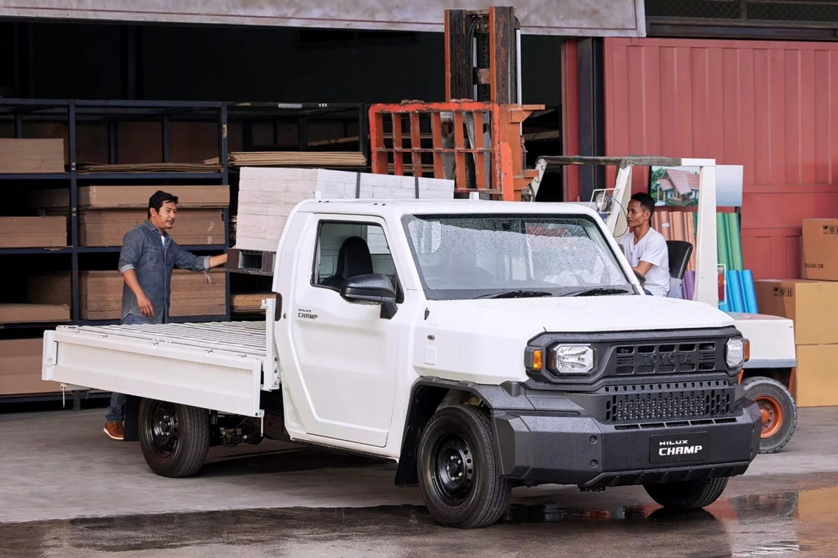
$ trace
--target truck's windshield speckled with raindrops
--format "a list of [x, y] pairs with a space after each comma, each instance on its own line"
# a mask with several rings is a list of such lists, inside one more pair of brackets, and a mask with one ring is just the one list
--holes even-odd
[[635, 294], [584, 216], [406, 215], [429, 299]]

